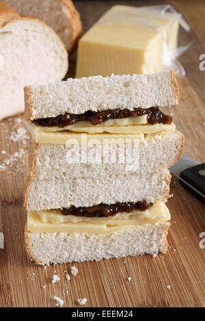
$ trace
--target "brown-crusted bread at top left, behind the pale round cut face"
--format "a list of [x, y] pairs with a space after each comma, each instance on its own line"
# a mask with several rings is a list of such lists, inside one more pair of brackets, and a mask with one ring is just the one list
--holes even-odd
[[50, 27], [72, 51], [81, 36], [82, 24], [79, 12], [71, 0], [4, 0], [20, 16], [33, 16]]

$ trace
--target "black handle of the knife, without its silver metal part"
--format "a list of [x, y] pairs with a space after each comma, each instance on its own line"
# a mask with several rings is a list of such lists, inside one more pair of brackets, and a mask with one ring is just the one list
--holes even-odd
[[[190, 185], [192, 185], [196, 190], [201, 192], [203, 195], [205, 194], [205, 163], [199, 164], [190, 168], [187, 168], [186, 170], [183, 170], [180, 172], [180, 177], [184, 179], [184, 181], [187, 181]], [[182, 182], [180, 182], [182, 183]], [[191, 194], [194, 194], [195, 196], [198, 196], [196, 192], [191, 190], [187, 185], [182, 183], [184, 188], [187, 188]], [[200, 200], [204, 202], [204, 198], [200, 196]]]

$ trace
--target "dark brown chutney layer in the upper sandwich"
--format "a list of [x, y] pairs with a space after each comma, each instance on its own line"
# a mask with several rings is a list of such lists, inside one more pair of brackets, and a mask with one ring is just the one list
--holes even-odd
[[56, 117], [50, 118], [38, 118], [31, 120], [32, 123], [40, 126], [57, 126], [66, 127], [74, 125], [79, 121], [89, 121], [92, 125], [99, 125], [109, 119], [120, 119], [148, 115], [148, 124], [154, 125], [156, 123], [171, 124], [172, 117], [167, 116], [159, 110], [159, 107], [150, 108], [134, 108], [134, 110], [120, 110], [116, 108], [115, 110], [105, 110], [103, 112], [92, 112], [87, 110], [83, 114], [64, 114]]

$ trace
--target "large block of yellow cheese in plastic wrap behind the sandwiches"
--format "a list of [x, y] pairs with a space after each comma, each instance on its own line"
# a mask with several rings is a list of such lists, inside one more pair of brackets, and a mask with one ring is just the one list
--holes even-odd
[[79, 40], [77, 78], [161, 71], [174, 56], [178, 15], [159, 7], [115, 5]]

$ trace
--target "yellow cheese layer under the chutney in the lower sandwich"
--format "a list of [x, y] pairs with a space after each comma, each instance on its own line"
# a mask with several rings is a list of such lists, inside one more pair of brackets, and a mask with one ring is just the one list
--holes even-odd
[[169, 209], [165, 203], [155, 201], [146, 211], [118, 213], [107, 218], [87, 218], [85, 216], [63, 215], [59, 209], [29, 211], [27, 229], [42, 233], [108, 233], [118, 229], [130, 229], [137, 225], [155, 224], [170, 220]]

